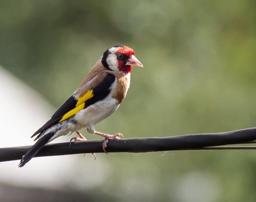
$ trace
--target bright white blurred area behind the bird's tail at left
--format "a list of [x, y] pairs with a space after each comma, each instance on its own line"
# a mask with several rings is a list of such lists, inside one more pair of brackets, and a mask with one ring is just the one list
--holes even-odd
[[[32, 145], [31, 135], [54, 113], [42, 96], [0, 66], [0, 147]], [[72, 136], [75, 136], [72, 135]], [[71, 136], [59, 137], [52, 143], [67, 142]], [[98, 160], [100, 159], [100, 160]], [[104, 181], [100, 167], [108, 162], [87, 154], [39, 157], [18, 168], [19, 161], [0, 162], [0, 183], [61, 189], [67, 183], [80, 188], [93, 188]], [[104, 164], [104, 165], [103, 165]], [[107, 165], [106, 165], [107, 164]], [[83, 167], [86, 167], [83, 171]], [[86, 174], [86, 172], [89, 172]], [[83, 180], [81, 180], [81, 178]], [[74, 187], [76, 188], [76, 187]]]

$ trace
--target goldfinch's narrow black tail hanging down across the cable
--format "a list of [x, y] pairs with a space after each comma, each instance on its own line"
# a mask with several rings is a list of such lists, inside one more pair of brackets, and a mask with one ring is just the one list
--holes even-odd
[[20, 160], [19, 167], [23, 167], [28, 161], [30, 161], [36, 154], [39, 152], [39, 150], [51, 139], [51, 137], [54, 135], [54, 132], [50, 132], [44, 136], [42, 136], [36, 144], [34, 144], [28, 152], [22, 157]]

